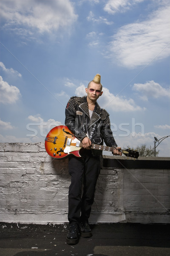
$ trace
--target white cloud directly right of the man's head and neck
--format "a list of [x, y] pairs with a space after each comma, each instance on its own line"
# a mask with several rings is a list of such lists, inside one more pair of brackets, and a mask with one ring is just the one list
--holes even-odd
[[103, 94], [98, 99], [99, 105], [102, 108], [110, 108], [114, 111], [142, 111], [141, 107], [137, 106], [133, 99], [120, 98], [114, 96], [107, 88], [103, 87]]

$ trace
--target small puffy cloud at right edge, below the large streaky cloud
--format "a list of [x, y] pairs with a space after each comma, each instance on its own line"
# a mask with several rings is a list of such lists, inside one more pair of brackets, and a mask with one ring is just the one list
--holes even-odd
[[148, 100], [148, 98], [170, 97], [170, 89], [163, 88], [160, 84], [154, 81], [147, 81], [145, 84], [134, 84], [133, 90], [142, 93], [141, 99]]

